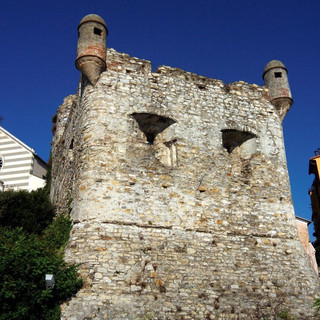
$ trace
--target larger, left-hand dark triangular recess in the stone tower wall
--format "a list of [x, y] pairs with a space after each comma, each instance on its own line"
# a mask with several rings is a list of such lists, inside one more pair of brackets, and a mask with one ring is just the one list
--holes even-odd
[[173, 119], [152, 113], [133, 113], [132, 116], [137, 121], [140, 130], [145, 134], [149, 144], [153, 144], [159, 133], [175, 123]]

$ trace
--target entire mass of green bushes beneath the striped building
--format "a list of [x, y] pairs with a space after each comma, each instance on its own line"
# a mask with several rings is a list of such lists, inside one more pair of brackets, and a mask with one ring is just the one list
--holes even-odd
[[[77, 267], [63, 260], [70, 219], [53, 218], [45, 189], [0, 192], [0, 320], [59, 319], [81, 288]], [[53, 289], [45, 274], [54, 274]]]

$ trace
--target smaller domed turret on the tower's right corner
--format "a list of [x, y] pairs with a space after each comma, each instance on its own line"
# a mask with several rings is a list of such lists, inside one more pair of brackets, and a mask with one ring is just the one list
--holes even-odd
[[264, 68], [262, 78], [269, 89], [270, 101], [278, 110], [282, 121], [293, 103], [288, 71], [281, 61], [272, 60]]

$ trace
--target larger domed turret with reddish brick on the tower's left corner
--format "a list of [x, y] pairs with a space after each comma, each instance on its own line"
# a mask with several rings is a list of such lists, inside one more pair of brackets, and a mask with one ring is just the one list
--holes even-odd
[[75, 64], [93, 86], [106, 70], [107, 35], [106, 23], [96, 14], [85, 16], [79, 23]]

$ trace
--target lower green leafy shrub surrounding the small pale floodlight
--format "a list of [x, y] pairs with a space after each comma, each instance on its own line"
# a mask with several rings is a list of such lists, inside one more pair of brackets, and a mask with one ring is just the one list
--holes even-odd
[[[82, 281], [76, 266], [67, 265], [54, 249], [22, 228], [0, 228], [0, 320], [59, 319], [60, 304]], [[46, 273], [54, 274], [52, 290], [45, 287]]]

